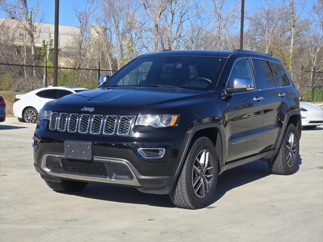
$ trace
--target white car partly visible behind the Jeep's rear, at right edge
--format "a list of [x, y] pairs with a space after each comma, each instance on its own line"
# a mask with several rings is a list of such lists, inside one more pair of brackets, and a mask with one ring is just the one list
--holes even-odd
[[322, 107], [309, 102], [300, 102], [300, 107], [304, 129], [315, 129], [316, 126], [323, 125]]

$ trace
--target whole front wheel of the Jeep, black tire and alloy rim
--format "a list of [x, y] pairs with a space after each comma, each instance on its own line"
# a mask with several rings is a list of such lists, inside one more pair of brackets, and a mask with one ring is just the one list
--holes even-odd
[[[204, 157], [207, 157], [208, 152], [208, 157], [211, 158], [208, 159], [208, 164], [206, 166], [201, 165], [199, 161], [202, 160], [204, 151]], [[199, 160], [198, 157], [200, 157]], [[194, 169], [194, 166], [199, 167]], [[211, 166], [213, 168], [207, 168]], [[202, 167], [204, 167], [206, 170], [203, 169], [202, 171]], [[200, 171], [201, 173], [194, 174], [195, 171]], [[206, 137], [201, 137], [193, 141], [182, 171], [178, 177], [177, 183], [174, 185], [174, 188], [170, 193], [170, 198], [174, 205], [179, 208], [187, 209], [199, 209], [206, 207], [216, 191], [218, 173], [219, 161], [213, 143]], [[194, 186], [193, 183], [196, 185]], [[200, 186], [199, 189], [197, 189], [198, 186]], [[195, 190], [197, 189], [197, 191], [195, 191], [194, 188]], [[208, 192], [206, 193], [205, 188], [208, 188]], [[204, 196], [201, 197], [203, 193]]]

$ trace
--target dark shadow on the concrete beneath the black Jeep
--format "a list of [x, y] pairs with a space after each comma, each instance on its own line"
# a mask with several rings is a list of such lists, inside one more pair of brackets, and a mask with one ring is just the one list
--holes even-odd
[[[301, 160], [299, 157], [299, 164], [301, 164]], [[217, 191], [210, 203], [210, 207], [228, 191], [271, 174], [268, 163], [261, 160], [225, 171], [218, 178]], [[73, 193], [73, 195], [119, 203], [175, 208], [168, 195], [141, 193], [134, 188], [114, 185], [90, 183], [82, 191]]]

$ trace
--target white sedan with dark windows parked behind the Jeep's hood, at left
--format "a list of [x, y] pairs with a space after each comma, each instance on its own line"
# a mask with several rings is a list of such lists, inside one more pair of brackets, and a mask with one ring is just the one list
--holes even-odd
[[20, 122], [36, 123], [39, 110], [46, 102], [86, 90], [88, 89], [82, 87], [49, 86], [26, 94], [18, 94], [14, 103], [14, 115], [18, 117]]

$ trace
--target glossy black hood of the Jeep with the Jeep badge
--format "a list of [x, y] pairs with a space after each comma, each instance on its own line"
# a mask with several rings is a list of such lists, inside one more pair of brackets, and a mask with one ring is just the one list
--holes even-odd
[[208, 91], [189, 89], [151, 87], [98, 88], [47, 102], [44, 108], [61, 112], [166, 114], [171, 113], [174, 107], [204, 100], [209, 96]]

